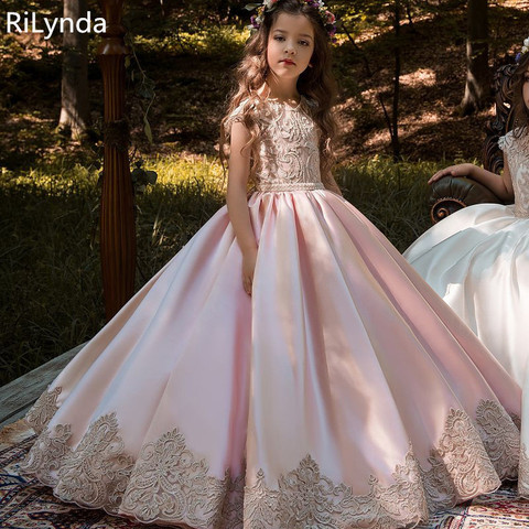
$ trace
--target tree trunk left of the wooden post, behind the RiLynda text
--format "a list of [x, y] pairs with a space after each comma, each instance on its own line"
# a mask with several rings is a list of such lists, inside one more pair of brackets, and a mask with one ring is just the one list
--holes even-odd
[[[86, 17], [86, 0], [64, 0], [64, 17], [74, 21], [74, 31], [63, 35], [63, 79], [58, 127], [79, 138], [88, 126], [88, 33], [76, 31], [79, 18]], [[65, 30], [68, 30], [65, 24]]]

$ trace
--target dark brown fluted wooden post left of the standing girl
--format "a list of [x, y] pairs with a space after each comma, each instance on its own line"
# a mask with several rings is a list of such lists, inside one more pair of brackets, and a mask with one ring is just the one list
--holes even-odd
[[125, 0], [99, 0], [107, 32], [98, 48], [105, 93], [105, 159], [100, 214], [100, 250], [105, 312], [110, 320], [134, 292], [134, 197], [125, 115]]

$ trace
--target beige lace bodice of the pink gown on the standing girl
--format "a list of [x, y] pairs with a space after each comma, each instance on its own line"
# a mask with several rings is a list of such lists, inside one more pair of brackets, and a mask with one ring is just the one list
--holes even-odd
[[[237, 121], [242, 101], [230, 116]], [[323, 188], [320, 175], [319, 129], [310, 117], [310, 101], [296, 107], [267, 99], [257, 108], [261, 138], [256, 173], [259, 191]], [[229, 122], [229, 121], [228, 121]]]

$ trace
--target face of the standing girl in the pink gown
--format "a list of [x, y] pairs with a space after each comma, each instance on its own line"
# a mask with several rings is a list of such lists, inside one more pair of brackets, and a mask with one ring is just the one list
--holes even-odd
[[314, 29], [303, 14], [280, 13], [268, 36], [267, 62], [279, 79], [298, 78], [311, 62]]

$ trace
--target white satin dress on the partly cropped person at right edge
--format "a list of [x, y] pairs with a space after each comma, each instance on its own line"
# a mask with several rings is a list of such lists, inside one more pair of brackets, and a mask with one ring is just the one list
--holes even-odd
[[509, 131], [499, 147], [515, 204], [465, 207], [404, 257], [523, 388], [518, 489], [529, 496], [529, 137]]

